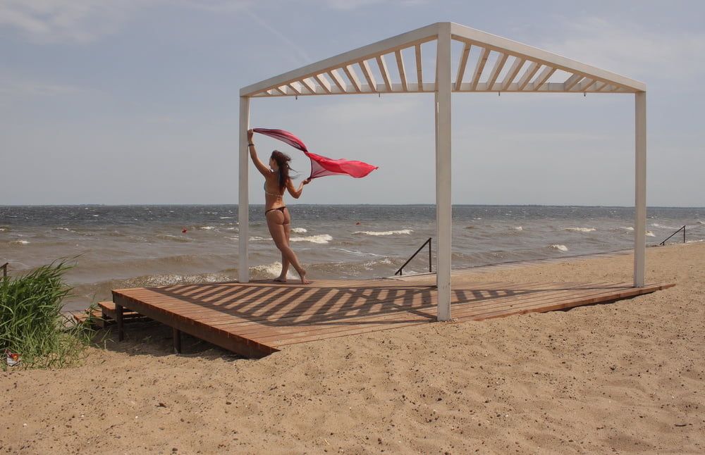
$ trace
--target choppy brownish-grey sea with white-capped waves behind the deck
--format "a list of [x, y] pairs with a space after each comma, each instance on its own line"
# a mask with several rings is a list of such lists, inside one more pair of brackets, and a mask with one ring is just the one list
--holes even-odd
[[[429, 237], [435, 270], [432, 205], [297, 204], [290, 212], [291, 246], [312, 280], [391, 276]], [[453, 268], [630, 249], [633, 218], [625, 207], [453, 206]], [[683, 225], [686, 242], [705, 241], [705, 208], [649, 207], [647, 245]], [[69, 311], [110, 299], [111, 289], [235, 280], [239, 234], [233, 205], [0, 206], [0, 265], [19, 276], [68, 258]], [[262, 206], [250, 206], [249, 241], [250, 276], [276, 277], [281, 254]], [[428, 271], [423, 249], [403, 273]]]

